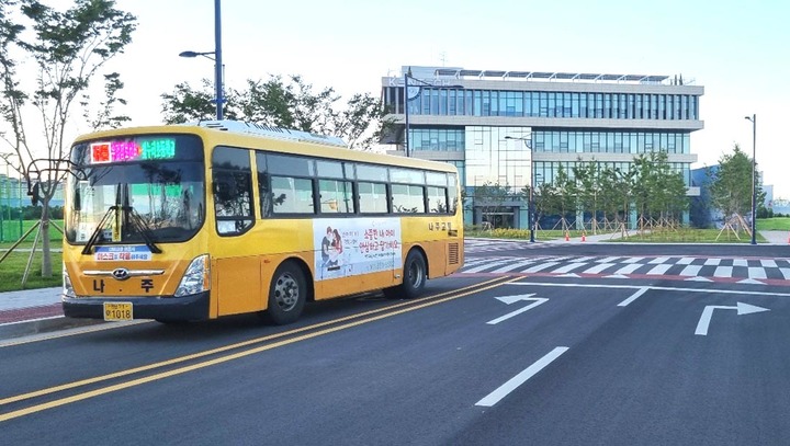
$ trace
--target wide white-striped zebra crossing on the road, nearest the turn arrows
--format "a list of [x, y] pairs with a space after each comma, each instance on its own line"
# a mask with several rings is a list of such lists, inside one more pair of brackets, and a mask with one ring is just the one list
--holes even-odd
[[467, 258], [460, 273], [540, 274], [556, 276], [658, 277], [690, 281], [790, 281], [789, 259], [701, 256], [537, 255]]

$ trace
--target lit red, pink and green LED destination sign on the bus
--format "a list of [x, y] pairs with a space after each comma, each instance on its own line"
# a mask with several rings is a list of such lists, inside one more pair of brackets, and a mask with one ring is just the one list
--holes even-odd
[[91, 144], [91, 164], [176, 158], [176, 140], [157, 138]]

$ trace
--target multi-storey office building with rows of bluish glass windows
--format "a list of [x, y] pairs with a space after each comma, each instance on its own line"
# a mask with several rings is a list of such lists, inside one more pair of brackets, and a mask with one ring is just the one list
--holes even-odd
[[[467, 196], [484, 184], [519, 191], [551, 183], [561, 165], [571, 172], [577, 162], [628, 170], [634, 157], [658, 150], [690, 186], [697, 156], [689, 136], [703, 128], [703, 93], [669, 76], [403, 67], [382, 78], [395, 122], [383, 142], [393, 153], [458, 165]], [[496, 216], [467, 207], [467, 224], [528, 227], [519, 201], [503, 203]]]

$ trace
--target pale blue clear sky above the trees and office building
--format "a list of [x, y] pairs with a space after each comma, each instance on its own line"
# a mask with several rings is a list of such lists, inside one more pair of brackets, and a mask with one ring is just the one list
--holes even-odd
[[[57, 5], [68, 0], [50, 0]], [[125, 82], [133, 125], [162, 122], [161, 94], [214, 80], [213, 62], [178, 57], [214, 50], [214, 0], [116, 0], [137, 16], [133, 42], [108, 68]], [[222, 1], [226, 88], [300, 75], [343, 99], [381, 93], [402, 66], [512, 71], [682, 75], [704, 87], [704, 129], [692, 168], [716, 164], [738, 144], [775, 197], [790, 198], [790, 2], [753, 0]]]

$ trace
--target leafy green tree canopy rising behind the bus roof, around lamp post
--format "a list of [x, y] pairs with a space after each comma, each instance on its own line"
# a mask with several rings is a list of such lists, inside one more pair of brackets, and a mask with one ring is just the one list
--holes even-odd
[[[161, 95], [168, 124], [214, 118], [212, 84], [204, 80], [201, 90], [179, 83]], [[354, 94], [345, 104], [332, 88], [314, 91], [301, 76], [270, 76], [268, 80], [247, 80], [244, 90], [230, 90], [225, 113], [229, 119], [249, 121], [273, 127], [293, 128], [343, 138], [349, 148], [369, 149], [392, 125], [384, 121], [387, 111], [369, 93]]]

